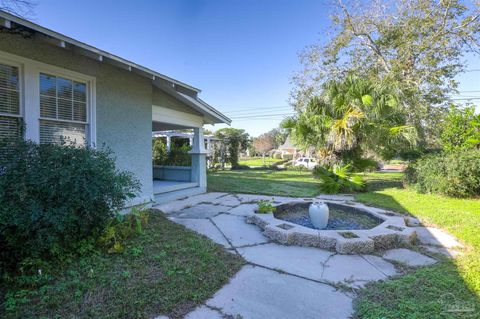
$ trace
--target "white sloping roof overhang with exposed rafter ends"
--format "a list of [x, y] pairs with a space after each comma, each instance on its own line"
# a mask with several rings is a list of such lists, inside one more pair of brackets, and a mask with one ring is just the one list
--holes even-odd
[[166, 91], [166, 93], [171, 94], [193, 109], [204, 114], [207, 124], [231, 123], [228, 117], [198, 98], [198, 93], [200, 93], [201, 90], [191, 85], [1, 10], [0, 28], [27, 29], [32, 31], [36, 37], [52, 45], [71, 50], [99, 62], [109, 63], [118, 68], [137, 73], [152, 80], [155, 86]]

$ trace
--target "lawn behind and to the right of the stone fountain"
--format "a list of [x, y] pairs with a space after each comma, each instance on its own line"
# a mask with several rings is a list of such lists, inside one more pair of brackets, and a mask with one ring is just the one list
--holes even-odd
[[[355, 302], [357, 318], [480, 318], [480, 200], [418, 194], [401, 173], [361, 174], [367, 192], [356, 200], [419, 218], [456, 236], [467, 249], [405, 276], [368, 284]], [[310, 197], [319, 191], [310, 172], [238, 170], [209, 174], [215, 191]], [[467, 312], [448, 312], [459, 306]], [[473, 308], [472, 308], [473, 307]], [[476, 312], [470, 312], [471, 309]]]

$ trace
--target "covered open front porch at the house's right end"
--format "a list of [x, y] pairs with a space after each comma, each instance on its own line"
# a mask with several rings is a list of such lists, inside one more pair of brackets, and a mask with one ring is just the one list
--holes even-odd
[[[157, 165], [152, 165], [156, 203], [207, 191], [207, 149], [212, 137], [204, 136], [203, 126], [230, 123], [228, 118], [198, 99], [195, 92], [177, 89], [159, 85], [153, 92], [152, 138], [164, 143], [163, 150], [158, 153], [163, 155], [156, 157]], [[183, 139], [180, 149], [173, 148], [172, 138]], [[189, 149], [188, 154], [185, 149]], [[165, 151], [172, 156], [165, 155]]]

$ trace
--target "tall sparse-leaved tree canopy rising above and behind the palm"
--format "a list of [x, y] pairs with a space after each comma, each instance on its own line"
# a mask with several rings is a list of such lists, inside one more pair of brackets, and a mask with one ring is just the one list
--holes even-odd
[[307, 47], [291, 100], [304, 110], [322, 85], [357, 75], [398, 90], [421, 141], [434, 143], [466, 53], [480, 51], [479, 3], [460, 0], [337, 0], [331, 37]]

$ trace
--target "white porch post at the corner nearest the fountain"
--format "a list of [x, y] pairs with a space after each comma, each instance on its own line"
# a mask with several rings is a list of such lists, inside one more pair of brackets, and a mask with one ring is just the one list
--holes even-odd
[[192, 156], [192, 175], [191, 181], [198, 183], [198, 186], [207, 188], [207, 151], [205, 150], [205, 142], [203, 137], [203, 128], [193, 129], [194, 138], [192, 150], [189, 152]]

